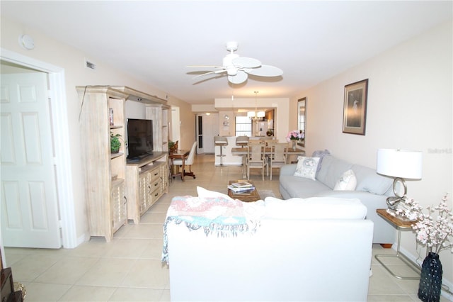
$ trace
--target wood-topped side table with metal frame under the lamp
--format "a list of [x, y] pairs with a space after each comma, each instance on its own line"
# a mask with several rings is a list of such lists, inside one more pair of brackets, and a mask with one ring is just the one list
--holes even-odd
[[[396, 255], [375, 255], [374, 258], [376, 258], [377, 261], [380, 264], [382, 264], [382, 266], [392, 276], [394, 276], [397, 279], [405, 279], [405, 280], [408, 280], [408, 279], [413, 279], [413, 280], [420, 279], [420, 267], [418, 267], [417, 264], [412, 262], [411, 259], [408, 259], [408, 257], [406, 257], [405, 255], [401, 254], [400, 250], [399, 250], [400, 249], [400, 242], [401, 242], [401, 230], [412, 229], [411, 225], [414, 223], [414, 221], [413, 220], [407, 220], [407, 219], [404, 219], [404, 218], [398, 217], [398, 216], [393, 216], [393, 215], [391, 215], [390, 213], [387, 212], [386, 208], [378, 208], [376, 210], [376, 212], [377, 212], [377, 214], [379, 216], [381, 216], [388, 223], [390, 223], [391, 225], [394, 225], [394, 227], [398, 230], [398, 242], [396, 244]], [[408, 267], [411, 267], [411, 269], [413, 269], [413, 271], [416, 272], [419, 276], [398, 276], [397, 274], [392, 272], [391, 269], [389, 267], [387, 267], [386, 264], [384, 264], [384, 262], [382, 262], [381, 259], [379, 259], [379, 258], [383, 258], [383, 257], [401, 259], [402, 262], [407, 264]]]

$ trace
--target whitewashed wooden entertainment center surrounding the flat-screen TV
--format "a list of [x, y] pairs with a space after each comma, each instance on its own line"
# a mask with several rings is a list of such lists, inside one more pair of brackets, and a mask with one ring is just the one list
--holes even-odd
[[[91, 236], [113, 234], [128, 219], [140, 216], [168, 192], [168, 121], [170, 106], [164, 99], [127, 86], [77, 86], [81, 100], [81, 155]], [[145, 105], [153, 121], [152, 155], [127, 162], [125, 102]], [[113, 114], [112, 114], [113, 111]], [[120, 135], [120, 152], [110, 152], [110, 135]]]

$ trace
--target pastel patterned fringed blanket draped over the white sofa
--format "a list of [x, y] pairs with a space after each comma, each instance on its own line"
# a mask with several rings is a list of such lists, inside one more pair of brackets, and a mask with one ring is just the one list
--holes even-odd
[[164, 223], [162, 262], [168, 264], [168, 223], [184, 223], [189, 230], [203, 230], [218, 237], [255, 233], [259, 220], [246, 218], [243, 202], [224, 197], [200, 198], [177, 196], [171, 200]]

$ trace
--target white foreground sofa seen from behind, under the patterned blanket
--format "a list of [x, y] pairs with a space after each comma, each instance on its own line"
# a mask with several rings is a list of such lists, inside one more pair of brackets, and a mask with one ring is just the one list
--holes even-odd
[[367, 301], [373, 223], [360, 201], [243, 206], [259, 217], [254, 233], [206, 235], [167, 219], [171, 301]]

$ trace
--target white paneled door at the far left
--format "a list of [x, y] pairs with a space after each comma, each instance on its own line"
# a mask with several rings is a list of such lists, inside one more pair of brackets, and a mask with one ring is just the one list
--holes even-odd
[[1, 74], [0, 153], [4, 246], [61, 247], [46, 73]]

